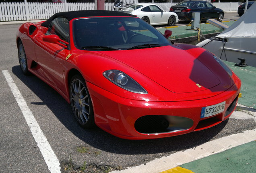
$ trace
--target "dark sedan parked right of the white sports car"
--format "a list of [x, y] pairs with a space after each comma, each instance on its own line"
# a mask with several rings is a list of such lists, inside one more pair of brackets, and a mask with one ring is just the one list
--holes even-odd
[[171, 6], [171, 12], [175, 12], [179, 19], [191, 20], [193, 12], [200, 12], [200, 20], [214, 18], [221, 21], [224, 17], [224, 11], [216, 8], [210, 2], [186, 0], [175, 6]]

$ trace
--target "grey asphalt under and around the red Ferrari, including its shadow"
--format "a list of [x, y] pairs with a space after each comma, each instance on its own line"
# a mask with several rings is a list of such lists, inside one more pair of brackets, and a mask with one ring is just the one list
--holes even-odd
[[11, 83], [16, 84], [58, 158], [61, 172], [74, 172], [74, 169], [81, 170], [83, 166], [87, 167], [86, 172], [99, 173], [126, 169], [215, 139], [256, 129], [253, 119], [230, 118], [204, 131], [138, 141], [119, 139], [99, 128], [82, 129], [72, 117], [70, 105], [54, 89], [33, 75], [24, 76], [21, 73], [15, 40], [18, 26], [0, 25], [0, 172], [50, 172], [3, 70], [10, 74]]

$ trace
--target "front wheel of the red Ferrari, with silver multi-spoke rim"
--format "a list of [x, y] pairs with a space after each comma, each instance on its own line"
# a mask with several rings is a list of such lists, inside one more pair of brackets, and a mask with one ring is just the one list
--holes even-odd
[[95, 126], [93, 105], [85, 79], [81, 75], [74, 75], [69, 85], [70, 104], [77, 123], [89, 129]]

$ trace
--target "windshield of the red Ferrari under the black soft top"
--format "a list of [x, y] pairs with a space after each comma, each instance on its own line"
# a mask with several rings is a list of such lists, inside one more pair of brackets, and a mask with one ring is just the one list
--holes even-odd
[[171, 45], [161, 32], [135, 17], [76, 19], [73, 33], [76, 47], [82, 50], [126, 50]]

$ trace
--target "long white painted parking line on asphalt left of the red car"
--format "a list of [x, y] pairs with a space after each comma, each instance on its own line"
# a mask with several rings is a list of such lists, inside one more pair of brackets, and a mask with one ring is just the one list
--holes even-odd
[[60, 173], [60, 162], [58, 161], [57, 156], [54, 154], [52, 147], [50, 146], [45, 135], [43, 134], [43, 131], [35, 120], [35, 117], [27, 106], [27, 103], [21, 95], [21, 92], [19, 91], [17, 85], [14, 83], [8, 70], [2, 70], [2, 73], [4, 74], [10, 90], [12, 91], [12, 94], [14, 95], [14, 98], [16, 99], [21, 109], [21, 112], [23, 113], [27, 125], [29, 126], [35, 142], [37, 143], [37, 146], [39, 147], [43, 155], [43, 159], [45, 160], [48, 169], [51, 173]]

